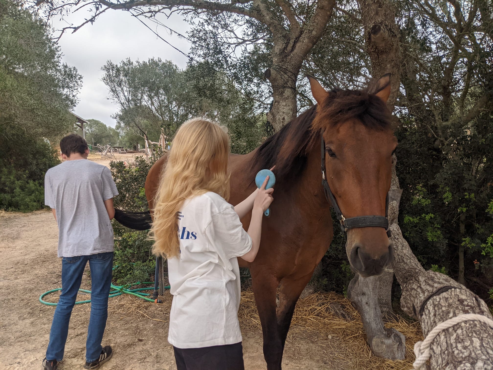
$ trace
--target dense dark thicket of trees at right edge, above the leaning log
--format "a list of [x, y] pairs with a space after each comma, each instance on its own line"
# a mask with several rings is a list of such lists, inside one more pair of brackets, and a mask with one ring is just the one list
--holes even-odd
[[480, 290], [493, 285], [493, 34], [486, 9], [488, 1], [453, 0], [412, 1], [403, 9], [410, 16], [398, 132], [401, 204], [409, 205], [404, 235], [422, 263], [443, 266], [462, 284], [467, 276]]

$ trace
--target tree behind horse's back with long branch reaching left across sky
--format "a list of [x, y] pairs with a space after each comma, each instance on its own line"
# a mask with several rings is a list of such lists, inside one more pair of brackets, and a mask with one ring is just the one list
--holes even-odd
[[[225, 50], [230, 64], [236, 60], [237, 67], [249, 65], [249, 57], [258, 56], [259, 66], [268, 68], [265, 77], [272, 89], [272, 109], [268, 119], [274, 129], [279, 130], [296, 116], [296, 81], [300, 68], [323, 34], [334, 4], [334, 0], [145, 0], [115, 3], [106, 0], [76, 3], [59, 0], [44, 2], [41, 6], [48, 16], [53, 16], [63, 14], [68, 9], [74, 10], [76, 6], [89, 5], [93, 16], [84, 24], [93, 22], [107, 9], [124, 9], [134, 16], [147, 17], [155, 22], [159, 22], [154, 18], [157, 13], [180, 12], [196, 26], [190, 34], [191, 39], [197, 43], [201, 40], [206, 44], [213, 43], [209, 49]], [[77, 28], [67, 27], [64, 31]], [[249, 53], [250, 50], [253, 53]], [[237, 57], [240, 55], [242, 57]], [[224, 68], [224, 71], [229, 70]], [[235, 71], [241, 70], [236, 68]], [[233, 77], [238, 77], [234, 80], [241, 83], [245, 74], [233, 74]], [[252, 78], [258, 80], [259, 73]]]

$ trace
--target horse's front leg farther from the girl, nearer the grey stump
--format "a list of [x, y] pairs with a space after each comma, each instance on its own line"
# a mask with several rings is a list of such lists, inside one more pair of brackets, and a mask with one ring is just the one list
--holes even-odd
[[[281, 336], [282, 352], [284, 352], [284, 343], [286, 342], [287, 332], [293, 318], [294, 307], [296, 302], [305, 289], [306, 285], [312, 278], [313, 271], [300, 278], [286, 277], [282, 279], [281, 292], [279, 294], [279, 308], [277, 313], [277, 323], [279, 335]], [[282, 356], [282, 355], [281, 355]], [[281, 357], [282, 360], [282, 357]]]

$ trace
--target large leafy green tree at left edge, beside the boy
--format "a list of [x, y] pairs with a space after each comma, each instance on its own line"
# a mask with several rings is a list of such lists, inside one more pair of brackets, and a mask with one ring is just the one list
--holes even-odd
[[81, 79], [44, 20], [0, 0], [0, 208], [42, 207], [44, 173], [58, 163], [49, 142], [72, 131]]

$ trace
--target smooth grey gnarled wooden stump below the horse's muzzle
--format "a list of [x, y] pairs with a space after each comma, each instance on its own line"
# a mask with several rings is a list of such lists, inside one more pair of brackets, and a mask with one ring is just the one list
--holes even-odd
[[379, 276], [362, 278], [356, 274], [349, 283], [348, 298], [361, 315], [368, 344], [375, 356], [404, 360], [406, 337], [395, 329], [384, 327], [378, 304]]

